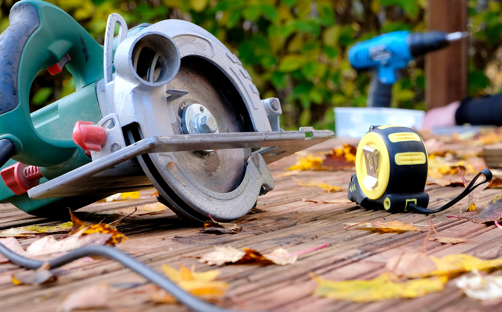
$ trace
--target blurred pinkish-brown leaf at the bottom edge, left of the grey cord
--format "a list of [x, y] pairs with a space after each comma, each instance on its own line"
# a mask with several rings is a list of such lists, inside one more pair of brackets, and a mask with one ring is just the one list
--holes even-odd
[[107, 307], [110, 288], [107, 284], [95, 284], [69, 294], [61, 303], [59, 310], [69, 312], [75, 309]]

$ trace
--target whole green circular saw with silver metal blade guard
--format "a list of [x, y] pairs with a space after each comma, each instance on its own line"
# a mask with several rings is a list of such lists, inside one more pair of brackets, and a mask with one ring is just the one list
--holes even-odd
[[[334, 136], [280, 129], [279, 100], [260, 99], [237, 57], [194, 24], [128, 30], [112, 14], [103, 47], [43, 1], [18, 2], [9, 18], [0, 38], [9, 72], [0, 142], [15, 147], [0, 200], [29, 214], [57, 216], [154, 186], [182, 217], [235, 220], [274, 188], [267, 164]], [[76, 92], [30, 115], [37, 73], [64, 66]]]

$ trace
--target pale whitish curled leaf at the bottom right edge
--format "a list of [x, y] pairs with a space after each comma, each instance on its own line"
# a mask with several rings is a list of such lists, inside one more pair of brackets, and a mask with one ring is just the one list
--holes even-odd
[[467, 296], [479, 300], [502, 298], [502, 276], [483, 276], [476, 269], [472, 273], [474, 276], [464, 275], [456, 282]]

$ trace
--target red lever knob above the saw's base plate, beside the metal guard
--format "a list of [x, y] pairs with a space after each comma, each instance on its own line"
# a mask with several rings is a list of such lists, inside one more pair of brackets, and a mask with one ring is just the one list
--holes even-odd
[[106, 143], [106, 130], [91, 121], [77, 121], [73, 127], [73, 141], [85, 152], [100, 151]]

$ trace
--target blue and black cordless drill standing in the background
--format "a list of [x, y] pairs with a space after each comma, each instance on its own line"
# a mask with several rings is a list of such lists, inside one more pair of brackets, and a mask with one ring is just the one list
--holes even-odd
[[467, 37], [467, 32], [410, 33], [397, 31], [356, 43], [348, 51], [349, 62], [357, 70], [371, 70], [366, 105], [389, 107], [396, 71], [414, 58], [446, 47], [451, 41]]

